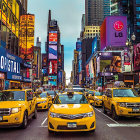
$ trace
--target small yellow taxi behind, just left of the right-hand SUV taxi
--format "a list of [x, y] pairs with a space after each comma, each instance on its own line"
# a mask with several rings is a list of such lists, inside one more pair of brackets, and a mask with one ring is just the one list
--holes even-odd
[[93, 95], [94, 106], [102, 106], [102, 92], [95, 91]]

